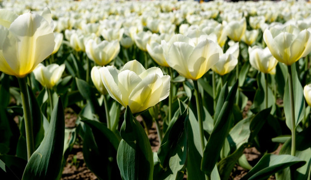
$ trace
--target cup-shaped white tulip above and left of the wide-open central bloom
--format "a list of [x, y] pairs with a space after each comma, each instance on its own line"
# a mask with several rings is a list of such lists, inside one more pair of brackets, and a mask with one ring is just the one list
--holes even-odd
[[86, 55], [98, 65], [103, 66], [111, 62], [120, 52], [118, 40], [97, 42], [89, 39], [85, 44]]

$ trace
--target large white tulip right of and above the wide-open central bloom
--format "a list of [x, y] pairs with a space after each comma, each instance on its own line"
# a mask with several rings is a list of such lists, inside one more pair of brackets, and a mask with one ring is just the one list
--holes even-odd
[[165, 52], [168, 64], [182, 76], [193, 80], [202, 77], [219, 60], [221, 47], [217, 36], [213, 34], [213, 38], [202, 33], [195, 30], [188, 33], [191, 37], [176, 34], [168, 44], [162, 41], [164, 49], [169, 49]]

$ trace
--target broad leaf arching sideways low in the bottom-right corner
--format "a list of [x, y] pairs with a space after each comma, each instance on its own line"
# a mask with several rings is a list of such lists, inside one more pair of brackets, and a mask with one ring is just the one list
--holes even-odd
[[[292, 166], [297, 168], [305, 164], [305, 161], [291, 155], [265, 154], [258, 163], [241, 180], [267, 179], [270, 175]], [[287, 179], [287, 178], [285, 178]]]

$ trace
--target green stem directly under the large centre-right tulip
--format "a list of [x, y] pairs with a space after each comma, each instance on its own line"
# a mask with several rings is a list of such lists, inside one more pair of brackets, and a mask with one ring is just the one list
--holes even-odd
[[203, 115], [202, 115], [202, 103], [201, 103], [201, 98], [200, 98], [200, 93], [199, 93], [199, 86], [198, 86], [198, 81], [194, 80], [193, 81], [194, 88], [195, 88], [195, 96], [196, 96], [196, 101], [197, 101], [197, 112], [198, 112], [198, 121], [199, 121], [199, 128], [200, 128], [200, 138], [201, 138], [201, 148], [202, 148], [202, 154], [204, 151], [205, 147], [205, 141], [204, 141], [204, 130], [203, 130]]

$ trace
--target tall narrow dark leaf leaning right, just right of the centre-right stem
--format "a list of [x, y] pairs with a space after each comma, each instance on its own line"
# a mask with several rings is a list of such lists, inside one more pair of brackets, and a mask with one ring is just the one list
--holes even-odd
[[204, 171], [208, 176], [211, 175], [212, 170], [218, 160], [221, 148], [225, 141], [225, 138], [229, 134], [231, 128], [231, 117], [234, 98], [238, 88], [238, 81], [235, 82], [231, 88], [226, 101], [219, 113], [214, 129], [207, 141], [204, 148], [203, 158], [201, 162], [201, 170]]

